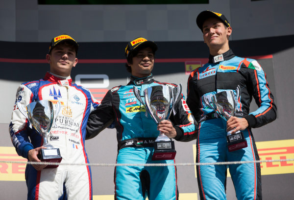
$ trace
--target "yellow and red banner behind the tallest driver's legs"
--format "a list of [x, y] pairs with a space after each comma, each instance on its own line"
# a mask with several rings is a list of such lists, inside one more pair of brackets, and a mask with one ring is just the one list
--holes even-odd
[[[294, 140], [273, 140], [256, 142], [260, 160], [294, 159]], [[196, 144], [193, 144], [194, 162], [196, 162]], [[294, 161], [261, 162], [261, 175], [294, 173]], [[229, 171], [227, 171], [230, 177]], [[196, 165], [195, 165], [195, 177]]]

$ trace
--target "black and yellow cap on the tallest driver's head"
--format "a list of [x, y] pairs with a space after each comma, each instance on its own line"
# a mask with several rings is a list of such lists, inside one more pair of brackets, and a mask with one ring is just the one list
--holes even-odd
[[221, 20], [224, 25], [226, 25], [227, 27], [230, 27], [230, 23], [229, 21], [226, 19], [226, 17], [221, 14], [221, 13], [215, 13], [213, 11], [210, 10], [205, 10], [202, 11], [201, 13], [199, 13], [199, 15], [196, 18], [196, 23], [197, 26], [200, 28], [200, 30], [203, 32], [203, 23], [205, 20], [207, 20], [208, 18], [217, 18], [219, 20]]

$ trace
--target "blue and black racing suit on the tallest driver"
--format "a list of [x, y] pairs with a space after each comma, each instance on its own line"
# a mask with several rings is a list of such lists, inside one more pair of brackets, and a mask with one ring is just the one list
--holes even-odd
[[[245, 118], [248, 128], [243, 132], [248, 147], [228, 152], [226, 121], [208, 107], [204, 97], [225, 90], [241, 88], [236, 117]], [[236, 95], [236, 92], [234, 91]], [[249, 112], [254, 98], [258, 109]], [[259, 160], [251, 128], [263, 126], [276, 119], [276, 105], [270, 92], [266, 74], [256, 60], [244, 59], [229, 51], [209, 57], [203, 67], [192, 71], [188, 79], [187, 104], [199, 121], [196, 162]], [[259, 163], [229, 166], [238, 199], [261, 199]], [[197, 166], [197, 180], [201, 199], [225, 199], [225, 165]], [[211, 183], [214, 184], [211, 184]]]

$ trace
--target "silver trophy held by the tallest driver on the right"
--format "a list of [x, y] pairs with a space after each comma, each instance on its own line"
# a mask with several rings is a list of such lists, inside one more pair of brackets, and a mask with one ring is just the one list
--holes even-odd
[[[224, 120], [229, 120], [231, 116], [235, 116], [237, 111], [237, 102], [240, 98], [240, 86], [236, 88], [236, 98], [233, 90], [219, 92], [211, 97], [211, 102], [204, 97], [204, 102]], [[227, 144], [229, 151], [236, 151], [247, 147], [247, 142], [241, 131], [231, 134], [232, 130], [227, 133]]]

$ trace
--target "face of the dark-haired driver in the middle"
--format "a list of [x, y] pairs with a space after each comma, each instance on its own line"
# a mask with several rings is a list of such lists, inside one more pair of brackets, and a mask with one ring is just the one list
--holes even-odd
[[133, 63], [127, 63], [132, 69], [132, 75], [143, 78], [151, 75], [154, 65], [154, 53], [150, 47], [140, 49], [132, 58]]

